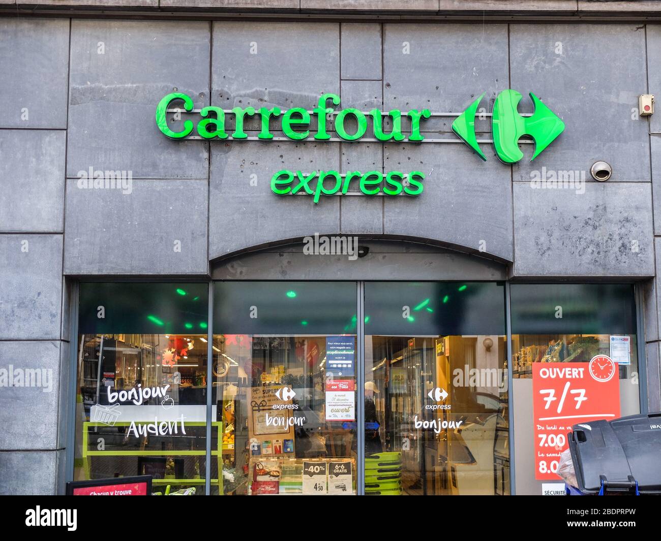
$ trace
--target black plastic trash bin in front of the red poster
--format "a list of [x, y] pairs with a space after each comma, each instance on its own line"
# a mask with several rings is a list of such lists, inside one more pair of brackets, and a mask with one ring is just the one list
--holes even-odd
[[661, 413], [590, 421], [568, 434], [582, 494], [661, 494]]

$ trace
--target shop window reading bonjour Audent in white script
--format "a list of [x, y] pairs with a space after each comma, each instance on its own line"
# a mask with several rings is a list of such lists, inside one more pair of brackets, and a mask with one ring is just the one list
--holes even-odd
[[75, 480], [204, 494], [207, 320], [206, 283], [81, 283]]

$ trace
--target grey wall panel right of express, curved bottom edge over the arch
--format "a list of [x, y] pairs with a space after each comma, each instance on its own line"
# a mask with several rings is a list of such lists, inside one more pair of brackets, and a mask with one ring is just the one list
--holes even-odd
[[[476, 252], [482, 247], [485, 255], [512, 261], [510, 169], [465, 150], [459, 143], [385, 145], [385, 170], [425, 174], [419, 196], [385, 198], [385, 233], [434, 238]], [[473, 167], [467, 165], [471, 160]]]

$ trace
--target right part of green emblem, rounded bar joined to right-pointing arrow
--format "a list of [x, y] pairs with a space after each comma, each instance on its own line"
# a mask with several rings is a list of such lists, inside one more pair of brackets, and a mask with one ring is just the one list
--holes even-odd
[[528, 118], [521, 116], [517, 110], [522, 96], [516, 90], [503, 90], [496, 98], [491, 131], [496, 155], [502, 162], [516, 163], [524, 157], [518, 145], [522, 135], [529, 135], [535, 141], [535, 153], [530, 159], [533, 161], [553, 139], [563, 133], [564, 122], [535, 94], [530, 92], [529, 96], [535, 104], [535, 112]]

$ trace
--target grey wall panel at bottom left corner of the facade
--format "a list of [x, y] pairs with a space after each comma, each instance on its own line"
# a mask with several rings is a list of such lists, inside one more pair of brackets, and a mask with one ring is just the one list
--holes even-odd
[[64, 451], [0, 452], [0, 495], [57, 494], [63, 456]]

